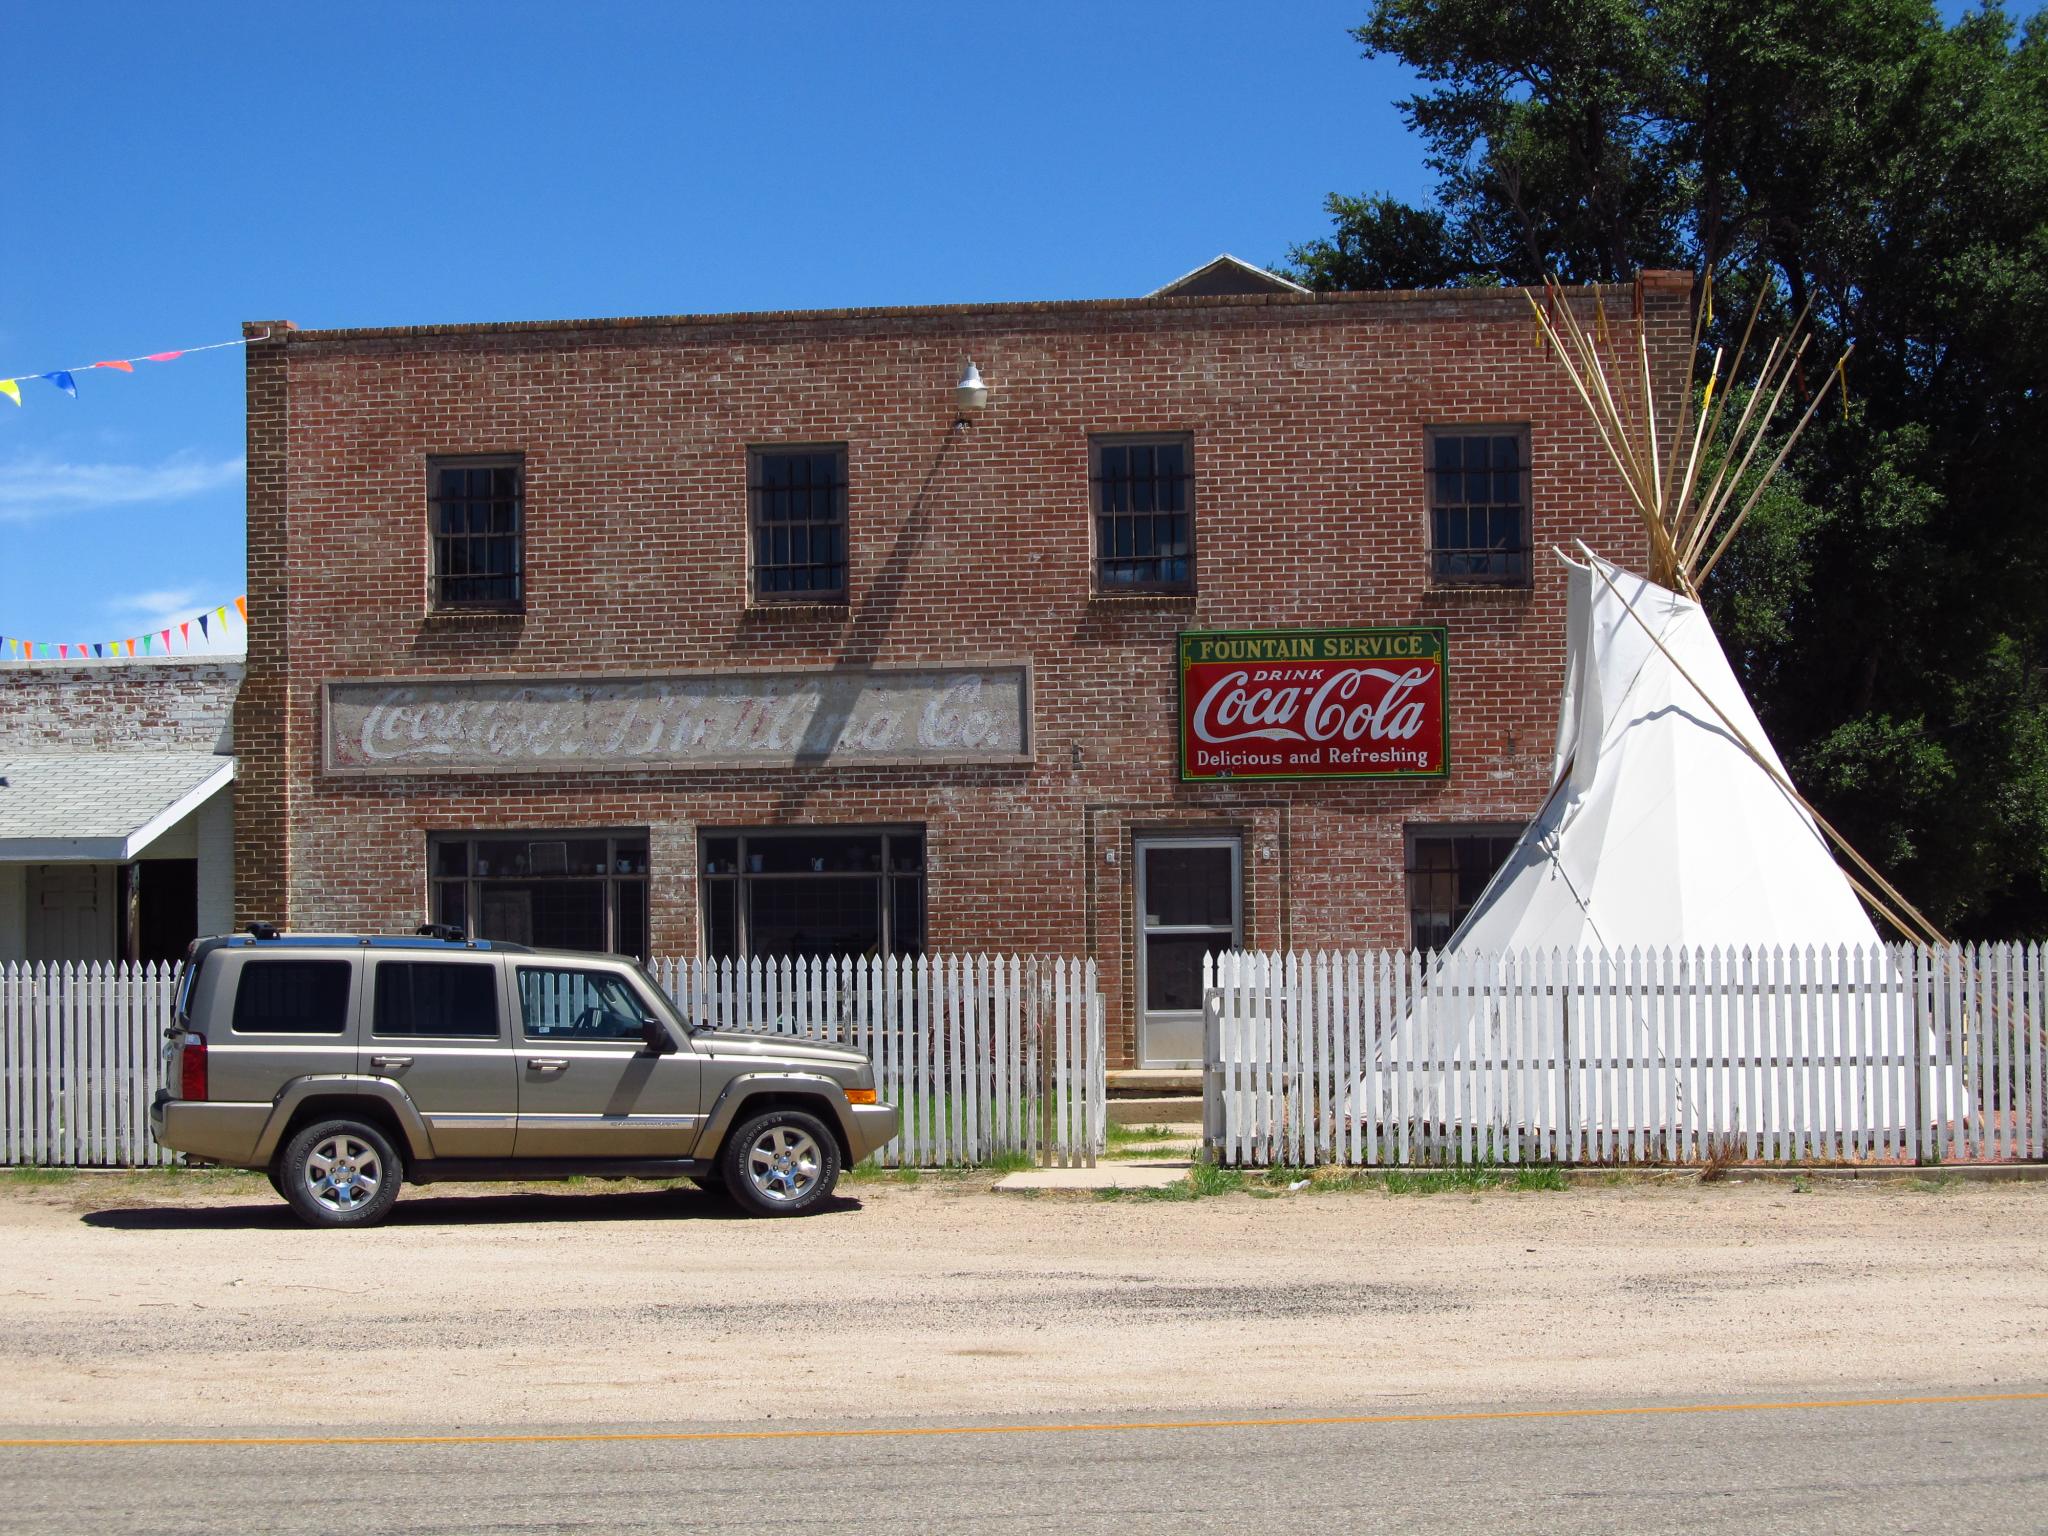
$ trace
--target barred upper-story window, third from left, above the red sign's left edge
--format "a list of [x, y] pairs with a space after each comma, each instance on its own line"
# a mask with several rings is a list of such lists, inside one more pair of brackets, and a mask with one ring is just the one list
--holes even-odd
[[1194, 438], [1090, 438], [1098, 592], [1194, 592]]

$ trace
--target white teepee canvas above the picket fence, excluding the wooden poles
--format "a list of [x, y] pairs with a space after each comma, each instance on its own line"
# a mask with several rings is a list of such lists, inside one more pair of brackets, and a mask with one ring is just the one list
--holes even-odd
[[1878, 944], [1700, 604], [1567, 563], [1550, 799], [1448, 950]]

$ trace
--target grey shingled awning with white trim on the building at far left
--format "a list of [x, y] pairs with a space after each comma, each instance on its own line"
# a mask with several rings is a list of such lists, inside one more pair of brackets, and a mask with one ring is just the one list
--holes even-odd
[[217, 752], [0, 754], [0, 862], [123, 864], [233, 778]]

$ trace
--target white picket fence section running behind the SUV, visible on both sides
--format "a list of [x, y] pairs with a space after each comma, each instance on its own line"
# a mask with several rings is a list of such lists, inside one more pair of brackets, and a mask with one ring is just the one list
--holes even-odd
[[[874, 1059], [903, 1133], [891, 1167], [1022, 1155], [1094, 1165], [1106, 1122], [1094, 961], [920, 956], [657, 961], [686, 1018]], [[156, 1167], [150, 1137], [174, 965], [0, 965], [0, 1163]]]

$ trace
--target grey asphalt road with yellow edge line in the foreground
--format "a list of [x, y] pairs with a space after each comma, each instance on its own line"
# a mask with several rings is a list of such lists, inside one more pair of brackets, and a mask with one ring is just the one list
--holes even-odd
[[[272, 1444], [10, 1442], [0, 1532], [2048, 1530], [2048, 1391], [2011, 1391], [1511, 1417], [627, 1427], [440, 1444], [336, 1423]], [[397, 1440], [360, 1444], [373, 1434]]]

